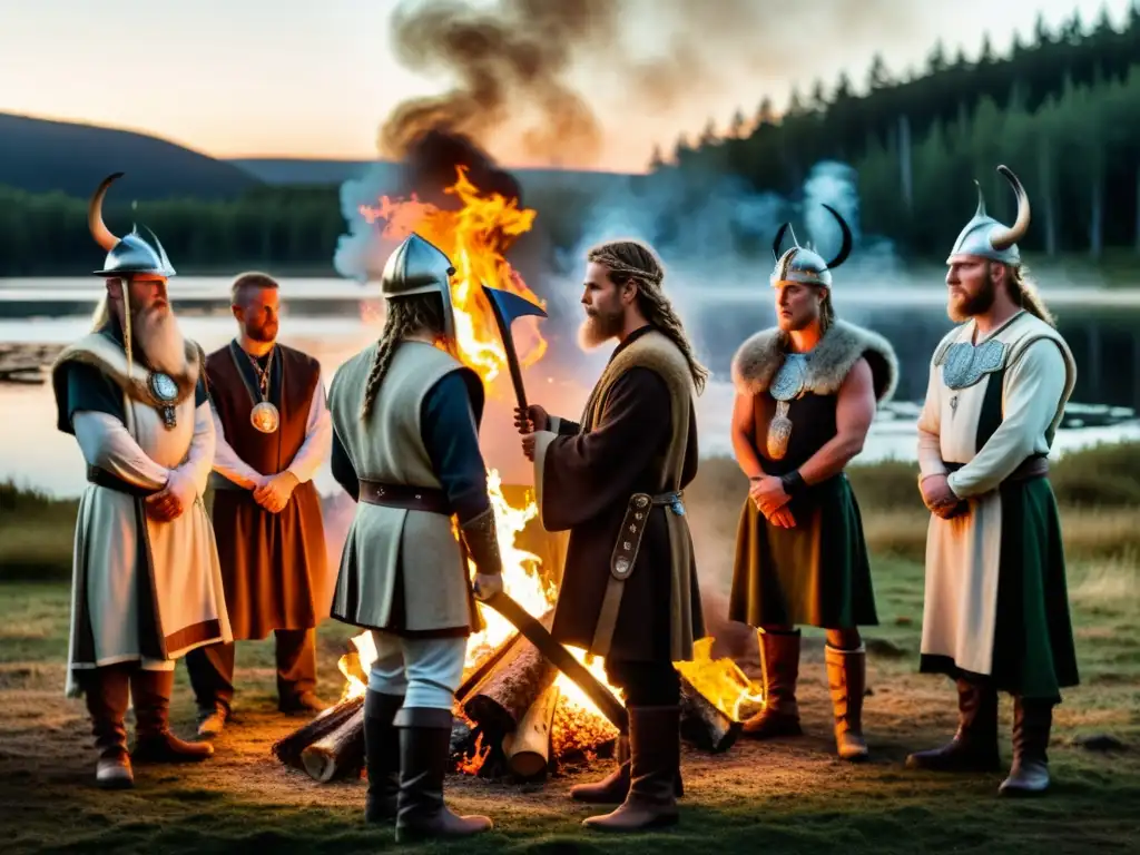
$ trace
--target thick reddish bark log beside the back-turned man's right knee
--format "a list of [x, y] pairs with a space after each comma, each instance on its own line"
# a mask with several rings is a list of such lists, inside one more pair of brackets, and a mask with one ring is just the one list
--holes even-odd
[[[549, 629], [553, 612], [542, 619]], [[555, 667], [526, 638], [519, 638], [463, 701], [463, 714], [490, 733], [511, 733], [530, 706], [557, 677]]]

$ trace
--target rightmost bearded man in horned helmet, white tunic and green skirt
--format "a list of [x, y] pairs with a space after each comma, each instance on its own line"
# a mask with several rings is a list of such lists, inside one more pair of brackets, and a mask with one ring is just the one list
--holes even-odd
[[946, 263], [959, 323], [930, 360], [919, 489], [930, 508], [921, 670], [958, 687], [959, 726], [912, 768], [996, 771], [997, 692], [1013, 695], [1013, 763], [1001, 795], [1049, 787], [1060, 690], [1078, 682], [1049, 451], [1076, 364], [1021, 268], [1029, 199], [1005, 166], [1017, 220], [978, 209]]

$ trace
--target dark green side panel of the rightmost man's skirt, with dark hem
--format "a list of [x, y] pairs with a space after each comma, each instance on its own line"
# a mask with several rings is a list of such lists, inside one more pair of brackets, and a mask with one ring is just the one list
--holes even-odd
[[950, 657], [923, 656], [920, 670], [991, 681], [997, 691], [1060, 701], [1080, 682], [1069, 618], [1060, 514], [1048, 479], [1001, 487], [1001, 568], [988, 677]]

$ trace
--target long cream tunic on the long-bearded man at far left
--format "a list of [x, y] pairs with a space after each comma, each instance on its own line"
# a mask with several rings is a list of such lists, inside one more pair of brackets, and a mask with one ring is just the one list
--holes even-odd
[[[96, 364], [120, 388], [127, 359], [108, 337], [93, 334], [68, 348], [66, 359]], [[146, 382], [137, 363], [131, 378]], [[66, 692], [81, 690], [76, 669], [139, 661], [144, 668], [171, 670], [188, 651], [233, 640], [218, 564], [218, 551], [203, 504], [214, 453], [209, 402], [195, 406], [193, 390], [176, 407], [177, 423], [168, 429], [160, 410], [124, 393], [127, 422], [89, 410], [75, 413], [72, 426], [88, 465], [149, 490], [170, 486], [184, 511], [171, 521], [146, 516], [138, 524], [137, 499], [125, 492], [88, 484], [80, 498], [75, 527], [71, 643]], [[139, 559], [145, 538], [153, 567], [154, 616], [165, 658], [145, 656], [141, 618], [155, 609], [139, 602]]]

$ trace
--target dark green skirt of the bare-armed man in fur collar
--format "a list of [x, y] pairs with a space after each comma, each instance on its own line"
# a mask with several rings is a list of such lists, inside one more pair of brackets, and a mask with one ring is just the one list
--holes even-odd
[[728, 618], [755, 627], [877, 625], [863, 520], [847, 475], [814, 484], [788, 506], [796, 527], [784, 529], [744, 499]]

